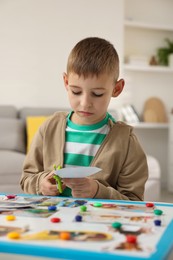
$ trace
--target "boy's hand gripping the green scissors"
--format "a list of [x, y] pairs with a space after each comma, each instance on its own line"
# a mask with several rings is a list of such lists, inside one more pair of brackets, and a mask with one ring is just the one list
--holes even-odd
[[[47, 196], [56, 196], [59, 195], [59, 191], [57, 188], [57, 184], [55, 179], [53, 178], [54, 171], [50, 172], [41, 182], [40, 191], [43, 195]], [[62, 189], [64, 190], [65, 185], [62, 185]]]

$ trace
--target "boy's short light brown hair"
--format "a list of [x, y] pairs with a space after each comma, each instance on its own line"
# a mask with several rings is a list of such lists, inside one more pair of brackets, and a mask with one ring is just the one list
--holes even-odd
[[114, 46], [105, 39], [89, 37], [79, 41], [68, 57], [67, 74], [79, 76], [113, 75], [119, 77], [119, 57]]

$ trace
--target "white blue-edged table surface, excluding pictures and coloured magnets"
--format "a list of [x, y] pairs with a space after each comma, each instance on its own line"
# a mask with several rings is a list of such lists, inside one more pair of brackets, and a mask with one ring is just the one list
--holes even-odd
[[[0, 195], [0, 211], [5, 200], [5, 195]], [[22, 205], [25, 199], [43, 199], [43, 196], [28, 196], [18, 195], [16, 197], [16, 203]], [[55, 197], [47, 197], [48, 199], [55, 199]], [[58, 198], [57, 211], [51, 212], [47, 217], [33, 217], [22, 215], [23, 210], [14, 210], [8, 213], [0, 214], [0, 226], [3, 227], [25, 227], [29, 226], [29, 230], [21, 234], [22, 239], [9, 239], [7, 235], [0, 235], [0, 258], [8, 254], [21, 255], [24, 257], [45, 257], [50, 259], [122, 259], [122, 260], [138, 260], [138, 259], [171, 259], [173, 249], [173, 204], [168, 203], [154, 203], [154, 209], [163, 211], [161, 216], [154, 214], [154, 209], [147, 208], [146, 202], [131, 202], [131, 201], [115, 201], [115, 200], [83, 200], [86, 202], [87, 211], [81, 212], [80, 206], [75, 205], [76, 199], [72, 198]], [[66, 206], [63, 206], [62, 201], [66, 202]], [[68, 202], [68, 203], [67, 203]], [[11, 200], [12, 203], [12, 200]], [[14, 202], [13, 202], [14, 203]], [[31, 202], [27, 201], [27, 205]], [[94, 206], [95, 203], [101, 203], [100, 207]], [[37, 203], [31, 203], [35, 208], [45, 208], [47, 206], [38, 206]], [[97, 204], [98, 205], [98, 204]], [[112, 208], [106, 208], [106, 206]], [[117, 208], [116, 208], [117, 207]], [[130, 208], [131, 207], [131, 208]], [[7, 221], [6, 215], [14, 214], [16, 219], [14, 221]], [[76, 222], [75, 216], [82, 215], [83, 221]], [[106, 216], [106, 217], [105, 217]], [[109, 216], [109, 217], [108, 217]], [[119, 218], [117, 218], [119, 216]], [[140, 216], [139, 219], [132, 221], [134, 216]], [[61, 222], [52, 223], [52, 217], [59, 217]], [[155, 226], [154, 220], [156, 218], [161, 219], [161, 226]], [[97, 221], [98, 219], [98, 221]], [[105, 220], [106, 219], [106, 220]], [[144, 221], [145, 220], [145, 221]], [[115, 249], [115, 245], [121, 244], [126, 239], [125, 229], [120, 234], [119, 230], [112, 228], [113, 222], [120, 222], [122, 227], [127, 228], [128, 232], [132, 232], [137, 228], [149, 228], [152, 233], [141, 233], [137, 235], [139, 247], [149, 248], [151, 246], [151, 252], [148, 249], [145, 251], [127, 251]], [[122, 228], [121, 227], [121, 228]], [[27, 234], [35, 234], [44, 230], [55, 231], [97, 231], [110, 234], [112, 239], [107, 241], [65, 241], [61, 239], [54, 240], [27, 240], [23, 239]], [[155, 250], [153, 247], [155, 246]], [[3, 258], [2, 258], [3, 259]], [[5, 258], [6, 259], [6, 258]]]

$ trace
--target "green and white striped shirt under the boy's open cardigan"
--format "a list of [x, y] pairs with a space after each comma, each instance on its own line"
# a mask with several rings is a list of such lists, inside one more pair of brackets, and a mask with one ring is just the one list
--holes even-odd
[[[64, 167], [89, 166], [110, 130], [108, 120], [112, 119], [112, 116], [107, 113], [99, 123], [78, 125], [70, 120], [72, 113], [67, 117]], [[65, 190], [67, 191], [67, 188]], [[63, 196], [69, 196], [64, 192]]]

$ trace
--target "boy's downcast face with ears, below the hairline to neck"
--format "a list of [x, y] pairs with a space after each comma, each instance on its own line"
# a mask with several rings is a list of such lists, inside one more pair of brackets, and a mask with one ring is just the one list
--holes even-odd
[[117, 97], [124, 81], [113, 83], [113, 77], [102, 74], [99, 77], [78, 76], [64, 73], [64, 84], [69, 102], [74, 111], [71, 120], [80, 125], [95, 124], [104, 119], [111, 97]]

